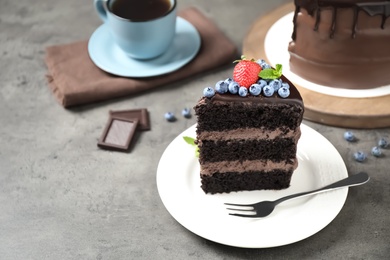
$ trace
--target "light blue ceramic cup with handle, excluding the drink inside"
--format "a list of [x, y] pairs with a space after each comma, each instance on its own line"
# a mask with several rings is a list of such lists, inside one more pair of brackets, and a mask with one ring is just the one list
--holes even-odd
[[115, 1], [119, 0], [94, 0], [94, 6], [113, 41], [124, 53], [131, 58], [145, 60], [167, 51], [175, 37], [176, 0], [169, 0], [170, 9], [165, 14], [149, 20], [132, 20], [115, 14], [112, 11]]

